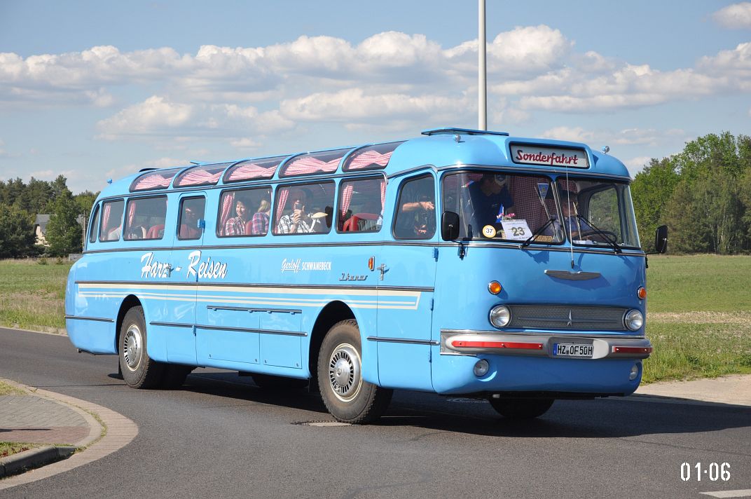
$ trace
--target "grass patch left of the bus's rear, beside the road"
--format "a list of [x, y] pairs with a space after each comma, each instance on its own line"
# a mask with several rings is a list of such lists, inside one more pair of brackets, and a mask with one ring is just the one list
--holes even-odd
[[0, 325], [48, 331], [65, 328], [65, 280], [71, 264], [0, 260]]

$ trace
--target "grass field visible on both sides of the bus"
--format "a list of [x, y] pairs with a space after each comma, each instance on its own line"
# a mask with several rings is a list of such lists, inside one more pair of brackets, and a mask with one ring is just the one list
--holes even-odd
[[[644, 382], [751, 373], [751, 256], [650, 256]], [[0, 325], [65, 328], [70, 265], [0, 261]]]

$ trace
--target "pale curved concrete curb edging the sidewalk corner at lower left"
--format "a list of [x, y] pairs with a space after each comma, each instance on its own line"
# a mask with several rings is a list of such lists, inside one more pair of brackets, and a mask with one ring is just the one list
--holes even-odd
[[[89, 434], [78, 442], [74, 442], [74, 446], [44, 446], [3, 458], [4, 471], [10, 468], [17, 472], [32, 466], [36, 466], [36, 469], [3, 479], [0, 482], [0, 490], [35, 482], [104, 458], [131, 443], [138, 434], [138, 426], [131, 419], [107, 407], [56, 392], [29, 388], [10, 380], [4, 379], [3, 381], [26, 390], [33, 396], [48, 398], [76, 411], [86, 419]], [[92, 414], [95, 414], [104, 426]]]

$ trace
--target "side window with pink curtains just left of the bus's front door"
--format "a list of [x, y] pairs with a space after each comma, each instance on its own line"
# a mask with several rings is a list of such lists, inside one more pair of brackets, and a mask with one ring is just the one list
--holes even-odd
[[386, 195], [383, 177], [342, 181], [336, 230], [378, 232], [383, 224]]

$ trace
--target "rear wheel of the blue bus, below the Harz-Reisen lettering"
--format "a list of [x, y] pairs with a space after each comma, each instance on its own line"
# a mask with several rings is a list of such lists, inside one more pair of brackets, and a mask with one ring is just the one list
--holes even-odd
[[164, 364], [152, 361], [146, 352], [146, 319], [143, 307], [132, 307], [120, 326], [119, 353], [122, 379], [131, 388], [158, 388], [164, 378]]

